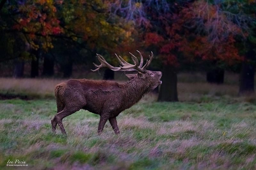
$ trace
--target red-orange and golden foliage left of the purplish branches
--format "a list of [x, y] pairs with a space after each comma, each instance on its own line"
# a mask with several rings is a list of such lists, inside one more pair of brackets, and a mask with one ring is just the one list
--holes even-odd
[[22, 33], [23, 41], [36, 50], [54, 48], [58, 38], [108, 50], [130, 36], [129, 26], [109, 18], [104, 1], [28, 0], [8, 7], [17, 11], [12, 13], [12, 31]]

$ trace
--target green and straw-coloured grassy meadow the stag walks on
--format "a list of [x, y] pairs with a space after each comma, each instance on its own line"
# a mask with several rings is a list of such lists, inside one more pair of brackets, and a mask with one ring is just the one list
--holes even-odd
[[80, 110], [63, 119], [65, 137], [59, 128], [52, 134], [50, 121], [50, 89], [60, 80], [45, 81], [52, 85], [44, 90], [40, 80], [23, 88], [19, 80], [19, 89], [9, 81], [0, 83], [2, 93], [33, 100], [0, 100], [0, 169], [17, 169], [6, 166], [9, 159], [26, 161], [26, 169], [256, 168], [256, 100], [237, 97], [236, 85], [180, 83], [182, 102], [174, 103], [150, 93], [117, 117], [119, 136], [109, 122], [98, 136], [99, 115]]

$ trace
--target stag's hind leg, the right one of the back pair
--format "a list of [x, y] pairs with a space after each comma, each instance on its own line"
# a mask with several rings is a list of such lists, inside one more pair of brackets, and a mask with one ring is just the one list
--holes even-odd
[[64, 129], [64, 126], [62, 124], [62, 119], [64, 117], [72, 115], [73, 113], [75, 113], [76, 111], [78, 111], [80, 109], [81, 109], [81, 107], [64, 107], [64, 109], [60, 113], [58, 113], [57, 115], [54, 116], [58, 125], [59, 125], [59, 127], [60, 127], [61, 133], [63, 135], [67, 135], [67, 133], [66, 133], [66, 131]]

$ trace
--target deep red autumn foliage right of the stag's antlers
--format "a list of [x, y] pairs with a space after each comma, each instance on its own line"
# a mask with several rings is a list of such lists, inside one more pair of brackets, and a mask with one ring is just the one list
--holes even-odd
[[[243, 59], [236, 47], [236, 36], [242, 29], [228, 19], [218, 5], [204, 1], [195, 1], [182, 6], [170, 15], [154, 15], [158, 26], [149, 27], [145, 33], [146, 46], [157, 46], [159, 55], [165, 64], [178, 65], [179, 55], [188, 60], [196, 57], [202, 60], [221, 60], [234, 63]], [[153, 28], [153, 29], [152, 29]], [[159, 29], [158, 29], [159, 30]]]

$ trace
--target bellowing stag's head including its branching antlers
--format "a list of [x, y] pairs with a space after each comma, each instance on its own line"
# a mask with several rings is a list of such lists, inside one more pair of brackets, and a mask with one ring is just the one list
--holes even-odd
[[[137, 50], [138, 51], [138, 50]], [[151, 55], [149, 55], [149, 60], [146, 61], [146, 64], [143, 66], [143, 57], [140, 54], [140, 65], [138, 58], [135, 57], [132, 53], [130, 55], [132, 56], [132, 61], [134, 64], [127, 63], [120, 55], [116, 55], [116, 58], [118, 59], [120, 66], [119, 67], [114, 67], [110, 65], [103, 56], [97, 54], [97, 58], [100, 61], [100, 65], [97, 65], [93, 63], [97, 69], [92, 70], [92, 71], [97, 71], [100, 68], [108, 68], [113, 71], [124, 71], [124, 72], [134, 72], [138, 71], [137, 74], [125, 74], [128, 78], [130, 79], [135, 79], [139, 80], [141, 83], [146, 83], [148, 86], [150, 86], [150, 90], [155, 89], [158, 85], [162, 84], [162, 81], [160, 81], [160, 78], [162, 77], [162, 72], [160, 71], [149, 71], [146, 70], [146, 68], [150, 65], [152, 59], [154, 58], [154, 55], [151, 51]]]

